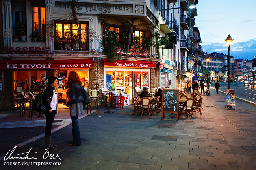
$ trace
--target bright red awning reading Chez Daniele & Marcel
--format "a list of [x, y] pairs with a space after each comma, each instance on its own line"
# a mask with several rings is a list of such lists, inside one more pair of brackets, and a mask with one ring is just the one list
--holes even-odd
[[156, 62], [151, 62], [151, 61], [115, 60], [113, 63], [110, 63], [106, 59], [103, 59], [103, 61], [104, 61], [104, 65], [107, 65], [107, 66], [156, 68]]

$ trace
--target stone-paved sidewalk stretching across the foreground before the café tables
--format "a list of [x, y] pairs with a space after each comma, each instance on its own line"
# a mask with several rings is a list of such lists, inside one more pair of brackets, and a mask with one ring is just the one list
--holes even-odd
[[[4, 166], [3, 158], [12, 147], [0, 152], [0, 168], [6, 169], [103, 169], [103, 170], [252, 170], [256, 167], [256, 107], [236, 100], [237, 110], [224, 108], [226, 96], [203, 96], [203, 118], [175, 116], [132, 116], [133, 106], [112, 114], [92, 114], [79, 120], [82, 145], [69, 146], [72, 125], [52, 133], [61, 166]], [[199, 117], [197, 117], [199, 116]], [[164, 126], [163, 126], [164, 125]], [[28, 127], [26, 127], [28, 128]], [[33, 127], [34, 128], [34, 127]], [[11, 128], [5, 128], [8, 131]], [[17, 129], [22, 133], [23, 128]], [[3, 136], [4, 134], [2, 134]], [[20, 135], [22, 136], [22, 134]], [[26, 134], [24, 135], [26, 136]], [[170, 137], [172, 136], [172, 137]], [[10, 139], [16, 136], [11, 136]], [[18, 143], [15, 143], [16, 145]], [[17, 153], [37, 152], [43, 159], [44, 139], [17, 148]], [[16, 152], [16, 151], [15, 151]], [[23, 160], [22, 160], [23, 161]], [[28, 160], [26, 160], [28, 161]]]

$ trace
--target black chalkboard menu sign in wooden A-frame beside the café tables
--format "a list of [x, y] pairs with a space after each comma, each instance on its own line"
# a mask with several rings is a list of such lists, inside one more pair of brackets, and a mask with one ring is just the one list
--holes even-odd
[[161, 119], [165, 117], [164, 113], [176, 113], [178, 120], [179, 112], [179, 90], [163, 90]]

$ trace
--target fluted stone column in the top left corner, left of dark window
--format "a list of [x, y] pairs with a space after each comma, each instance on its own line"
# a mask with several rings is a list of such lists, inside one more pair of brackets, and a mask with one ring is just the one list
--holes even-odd
[[2, 10], [3, 10], [3, 39], [4, 45], [7, 47], [12, 46], [12, 33], [11, 33], [11, 26], [12, 26], [12, 19], [11, 19], [11, 2], [10, 0], [2, 0]]

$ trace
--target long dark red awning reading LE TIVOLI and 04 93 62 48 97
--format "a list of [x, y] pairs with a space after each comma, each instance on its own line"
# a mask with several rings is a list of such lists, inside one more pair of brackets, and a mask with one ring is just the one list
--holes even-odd
[[67, 59], [67, 60], [0, 60], [1, 69], [69, 69], [91, 68], [93, 60]]

